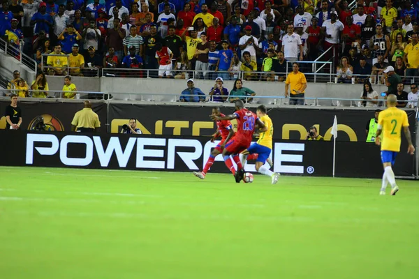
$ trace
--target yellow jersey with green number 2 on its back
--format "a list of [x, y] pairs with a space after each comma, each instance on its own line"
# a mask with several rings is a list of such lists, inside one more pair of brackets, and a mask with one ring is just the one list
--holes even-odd
[[389, 107], [378, 114], [378, 125], [383, 130], [381, 150], [399, 152], [402, 143], [402, 128], [409, 127], [406, 112], [397, 107]]

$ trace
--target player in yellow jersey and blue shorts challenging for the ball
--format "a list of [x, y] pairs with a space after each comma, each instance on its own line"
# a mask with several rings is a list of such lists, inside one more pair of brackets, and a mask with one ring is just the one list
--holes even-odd
[[272, 152], [272, 136], [274, 135], [274, 126], [272, 124], [272, 120], [266, 114], [266, 107], [264, 105], [258, 106], [258, 110], [256, 114], [258, 114], [258, 118], [265, 124], [265, 127], [260, 130], [259, 140], [258, 142], [249, 146], [248, 149], [244, 150], [240, 154], [240, 160], [242, 161], [242, 165], [244, 167], [247, 155], [249, 154], [258, 154], [258, 158], [256, 158], [256, 170], [260, 172], [260, 174], [265, 174], [270, 176], [272, 179], [272, 184], [278, 182], [279, 174], [271, 172], [270, 169], [265, 167], [265, 162], [269, 158], [270, 153]]

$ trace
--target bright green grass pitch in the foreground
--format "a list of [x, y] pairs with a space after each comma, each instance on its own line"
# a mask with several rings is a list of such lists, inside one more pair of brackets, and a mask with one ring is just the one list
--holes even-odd
[[418, 182], [398, 184], [1, 167], [0, 278], [418, 278]]

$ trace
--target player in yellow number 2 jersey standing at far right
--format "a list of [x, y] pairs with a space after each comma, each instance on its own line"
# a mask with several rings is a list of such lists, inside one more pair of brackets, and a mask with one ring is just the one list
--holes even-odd
[[[387, 110], [383, 110], [378, 114], [378, 130], [376, 132], [376, 144], [381, 144], [381, 161], [383, 162], [384, 174], [383, 183], [381, 184], [380, 195], [385, 195], [387, 184], [391, 185], [391, 195], [396, 195], [399, 187], [396, 184], [395, 173], [391, 166], [395, 164], [397, 153], [400, 151], [400, 143], [402, 142], [402, 128], [406, 140], [409, 144], [407, 153], [413, 155], [415, 147], [412, 144], [411, 133], [409, 130], [409, 121], [404, 110], [397, 107], [397, 97], [390, 94], [387, 97]], [[380, 142], [380, 135], [382, 140]]]

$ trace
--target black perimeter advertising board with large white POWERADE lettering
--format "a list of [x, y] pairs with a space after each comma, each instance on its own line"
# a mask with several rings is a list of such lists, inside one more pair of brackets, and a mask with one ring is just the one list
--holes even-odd
[[[193, 172], [203, 168], [216, 144], [209, 137], [199, 136], [0, 130], [0, 165]], [[405, 151], [403, 141], [395, 174], [412, 177], [415, 160]], [[332, 176], [332, 157], [332, 141], [274, 140], [274, 172]], [[248, 172], [254, 171], [253, 163], [247, 164]], [[221, 156], [217, 156], [211, 172], [228, 172]], [[381, 177], [379, 146], [337, 142], [335, 172], [340, 177]]]

